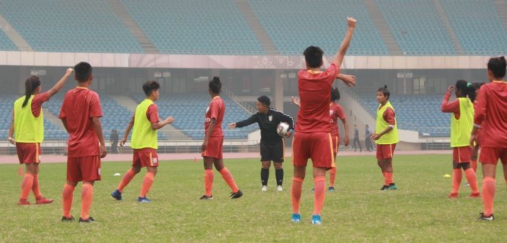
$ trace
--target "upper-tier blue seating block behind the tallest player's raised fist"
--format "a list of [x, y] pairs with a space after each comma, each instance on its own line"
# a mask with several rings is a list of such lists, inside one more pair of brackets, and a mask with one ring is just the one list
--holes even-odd
[[361, 28], [357, 28], [347, 54], [388, 54], [363, 1], [325, 0], [311, 6], [304, 0], [249, 0], [249, 3], [281, 54], [302, 55], [308, 45], [317, 45], [326, 54], [334, 55], [346, 32], [343, 20], [347, 16], [361, 20]]

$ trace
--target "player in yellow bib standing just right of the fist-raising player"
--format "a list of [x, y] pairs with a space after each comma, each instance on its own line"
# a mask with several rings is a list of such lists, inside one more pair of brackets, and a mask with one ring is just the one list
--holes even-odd
[[392, 158], [396, 143], [400, 140], [398, 139], [398, 124], [396, 124], [394, 108], [389, 102], [390, 95], [387, 85], [376, 92], [376, 101], [380, 104], [376, 111], [376, 127], [372, 139], [376, 143], [377, 163], [384, 176], [384, 185], [381, 190], [397, 189], [392, 179]]

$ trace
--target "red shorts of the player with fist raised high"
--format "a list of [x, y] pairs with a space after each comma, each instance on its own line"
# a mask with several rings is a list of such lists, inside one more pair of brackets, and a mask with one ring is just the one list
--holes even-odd
[[306, 166], [312, 159], [313, 167], [333, 168], [333, 138], [329, 132], [296, 132], [292, 140], [292, 164]]

